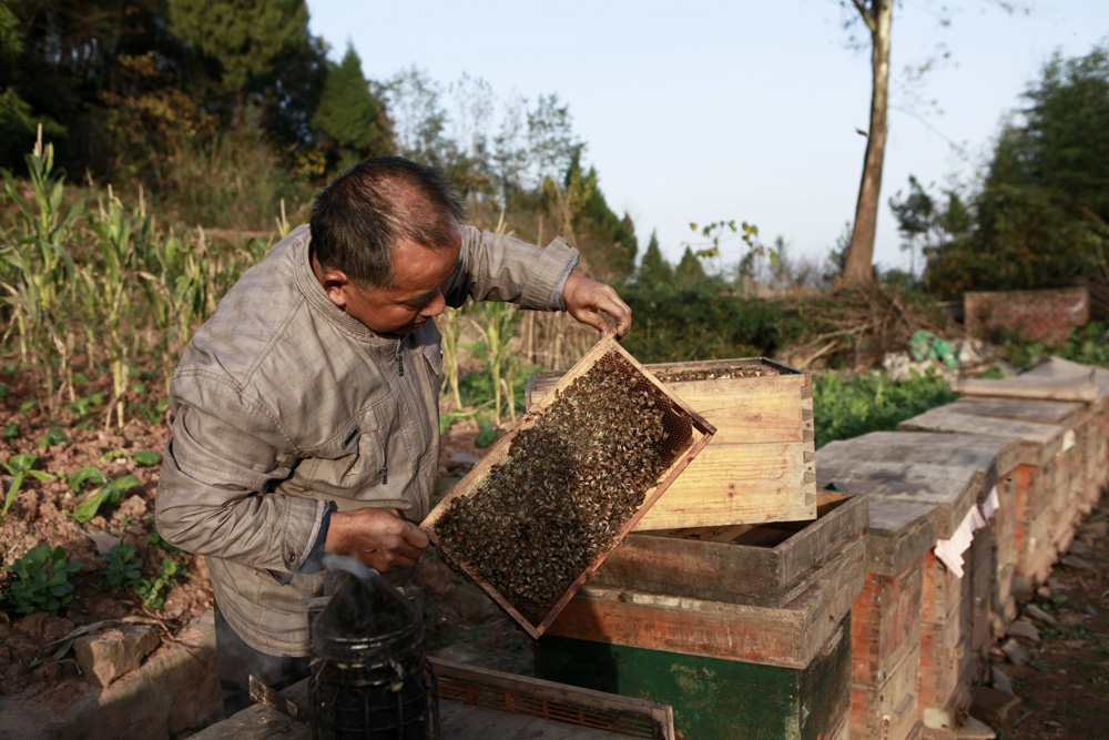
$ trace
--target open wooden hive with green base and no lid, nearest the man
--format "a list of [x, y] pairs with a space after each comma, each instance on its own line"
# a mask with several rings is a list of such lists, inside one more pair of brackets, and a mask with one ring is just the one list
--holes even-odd
[[[867, 504], [629, 536], [539, 641], [546, 679], [671, 704], [688, 738], [843, 738]], [[604, 688], [602, 688], [604, 687]]]

